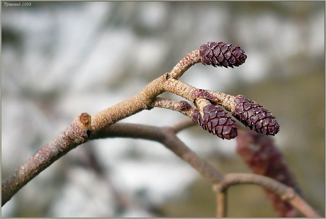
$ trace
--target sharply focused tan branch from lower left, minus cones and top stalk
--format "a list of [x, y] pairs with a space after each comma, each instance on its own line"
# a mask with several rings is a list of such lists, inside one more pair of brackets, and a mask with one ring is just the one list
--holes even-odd
[[[190, 66], [191, 65], [189, 65], [189, 67]], [[218, 99], [216, 96], [208, 93], [208, 91], [194, 88], [184, 82], [170, 77], [170, 74], [166, 73], [149, 83], [144, 89], [141, 90], [139, 94], [135, 95], [134, 97], [113, 105], [110, 108], [95, 114], [94, 116], [85, 114], [88, 117], [82, 123], [82, 120], [79, 121], [79, 119], [76, 119], [64, 132], [39, 150], [26, 164], [22, 165], [20, 169], [15, 171], [14, 175], [12, 175], [5, 183], [2, 184], [2, 193], [4, 194], [4, 201], [2, 202], [2, 205], [10, 200], [10, 198], [20, 188], [26, 185], [26, 183], [35, 177], [40, 171], [51, 165], [59, 157], [65, 155], [68, 151], [88, 141], [89, 136], [92, 136], [93, 132], [102, 129], [103, 127], [110, 126], [123, 118], [131, 116], [144, 109], [151, 109], [152, 107], [169, 108], [191, 117], [193, 107], [191, 107], [187, 102], [177, 102], [156, 98], [157, 95], [163, 93], [164, 91], [173, 92], [194, 102], [195, 104], [196, 99], [200, 100], [205, 98], [215, 103], [224, 103], [225, 99], [232, 97], [227, 94], [216, 93], [216, 95], [219, 95], [219, 97], [222, 98]], [[226, 103], [228, 102], [226, 101]], [[230, 108], [230, 104], [226, 105], [225, 107]], [[77, 126], [83, 127], [82, 132], [79, 132], [80, 130], [74, 128]], [[46, 152], [43, 152], [42, 150], [46, 150]], [[46, 164], [44, 162], [46, 162]], [[33, 166], [32, 169], [35, 174], [26, 172], [25, 165]], [[18, 176], [25, 179], [21, 180]], [[7, 194], [10, 195], [7, 196]]]

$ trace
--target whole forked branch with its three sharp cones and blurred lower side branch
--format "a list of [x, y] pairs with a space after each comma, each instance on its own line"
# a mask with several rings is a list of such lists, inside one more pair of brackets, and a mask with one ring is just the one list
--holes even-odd
[[[204, 178], [214, 184], [214, 189], [218, 194], [217, 198], [222, 200], [219, 201], [219, 203], [223, 203], [225, 206], [221, 211], [218, 210], [219, 216], [226, 215], [225, 210], [223, 210], [226, 208], [226, 190], [229, 186], [235, 184], [251, 183], [268, 187], [273, 192], [290, 201], [296, 208], [302, 210], [301, 206], [304, 205], [307, 207], [308, 205], [303, 199], [295, 195], [293, 189], [291, 190], [289, 187], [273, 179], [255, 174], [221, 174], [208, 162], [201, 159], [195, 152], [190, 150], [176, 136], [177, 132], [197, 123], [205, 130], [221, 138], [235, 138], [237, 132], [234, 120], [217, 105], [221, 105], [227, 111], [232, 112], [235, 118], [243, 122], [244, 125], [249, 126], [250, 129], [264, 134], [276, 134], [278, 132], [277, 130], [271, 132], [269, 129], [265, 132], [262, 131], [263, 127], [269, 128], [275, 125], [274, 117], [271, 118], [269, 115], [266, 115], [267, 111], [263, 111], [265, 113], [264, 116], [273, 119], [273, 121], [264, 120], [266, 123], [264, 123], [265, 125], [262, 124], [260, 128], [256, 127], [258, 122], [252, 120], [252, 118], [253, 116], [255, 118], [261, 116], [261, 110], [255, 111], [256, 108], [261, 108], [261, 106], [258, 104], [255, 105], [255, 102], [246, 99], [248, 101], [245, 103], [254, 104], [253, 106], [250, 105], [251, 108], [248, 108], [248, 104], [241, 102], [242, 99], [237, 101], [239, 100], [238, 96], [232, 96], [217, 91], [197, 89], [179, 80], [192, 65], [199, 62], [214, 67], [223, 66], [233, 68], [233, 66], [239, 66], [244, 63], [246, 58], [244, 51], [240, 49], [240, 47], [232, 46], [232, 44], [226, 44], [224, 42], [208, 42], [187, 54], [184, 59], [177, 63], [171, 72], [167, 72], [153, 80], [134, 97], [115, 104], [92, 116], [88, 113], [82, 113], [65, 131], [37, 151], [37, 153], [17, 169], [6, 182], [2, 183], [2, 206], [9, 201], [19, 189], [37, 176], [38, 173], [78, 145], [98, 138], [130, 137], [153, 140], [164, 144], [173, 153], [188, 162]], [[158, 97], [158, 95], [165, 91], [172, 92], [185, 98], [193, 103], [194, 106], [186, 101], [173, 101]], [[241, 108], [239, 104], [243, 104], [241, 105], [243, 108]], [[191, 120], [188, 119], [172, 127], [163, 128], [139, 124], [117, 123], [121, 119], [141, 112], [144, 109], [150, 110], [154, 107], [178, 111], [191, 118]], [[252, 108], [255, 108], [254, 111]], [[271, 125], [270, 123], [272, 122], [273, 124]], [[296, 201], [293, 201], [295, 199]], [[303, 212], [307, 216], [318, 216], [318, 214], [309, 207], [310, 206], [307, 208], [309, 211]]]

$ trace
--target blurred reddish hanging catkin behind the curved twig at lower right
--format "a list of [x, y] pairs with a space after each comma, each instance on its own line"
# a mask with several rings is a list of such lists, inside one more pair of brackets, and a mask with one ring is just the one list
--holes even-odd
[[[255, 174], [270, 177], [292, 187], [299, 195], [301, 194], [299, 185], [289, 171], [281, 152], [268, 136], [249, 130], [246, 133], [240, 132], [236, 140], [237, 153]], [[299, 216], [289, 203], [268, 189], [265, 191], [280, 217]]]

